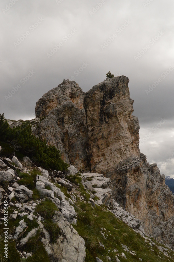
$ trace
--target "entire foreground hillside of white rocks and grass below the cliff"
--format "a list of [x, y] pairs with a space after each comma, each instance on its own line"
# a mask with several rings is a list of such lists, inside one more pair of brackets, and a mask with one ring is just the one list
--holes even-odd
[[110, 178], [72, 165], [66, 172], [47, 171], [3, 152], [1, 261], [174, 260], [173, 251], [145, 236], [141, 221], [113, 199]]

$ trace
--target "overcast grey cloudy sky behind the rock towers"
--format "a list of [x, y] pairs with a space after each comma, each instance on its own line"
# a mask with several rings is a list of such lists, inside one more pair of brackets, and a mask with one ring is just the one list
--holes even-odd
[[125, 75], [140, 150], [174, 177], [173, 0], [4, 0], [0, 9], [6, 118], [35, 118], [36, 101], [63, 79], [86, 92], [109, 71]]

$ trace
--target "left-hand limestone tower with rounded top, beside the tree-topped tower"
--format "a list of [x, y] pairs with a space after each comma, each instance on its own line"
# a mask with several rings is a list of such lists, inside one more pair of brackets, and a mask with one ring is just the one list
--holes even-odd
[[36, 117], [45, 119], [38, 123], [35, 134], [55, 145], [63, 160], [78, 169], [88, 165], [84, 95], [77, 83], [65, 80], [36, 103]]

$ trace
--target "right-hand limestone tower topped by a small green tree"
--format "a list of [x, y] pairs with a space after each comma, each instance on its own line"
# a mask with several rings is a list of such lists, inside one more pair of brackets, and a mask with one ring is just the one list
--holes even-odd
[[97, 173], [112, 173], [120, 161], [140, 155], [128, 83], [124, 76], [106, 79], [85, 94], [91, 170]]

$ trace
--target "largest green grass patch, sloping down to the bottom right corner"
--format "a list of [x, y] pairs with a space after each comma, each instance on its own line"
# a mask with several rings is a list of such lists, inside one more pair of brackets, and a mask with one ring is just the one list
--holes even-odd
[[[151, 247], [150, 244], [144, 242], [144, 238], [129, 228], [124, 222], [117, 219], [113, 213], [108, 211], [105, 207], [96, 206], [94, 209], [91, 204], [78, 201], [77, 225], [73, 225], [81, 237], [85, 239], [86, 259], [85, 262], [96, 261], [96, 257], [102, 259], [103, 262], [108, 261], [106, 256], [110, 256], [112, 261], [116, 261], [114, 249], [118, 250], [121, 262], [126, 261], [121, 257], [124, 252], [127, 261], [139, 261], [142, 258], [143, 262], [169, 262], [170, 260], [158, 248]], [[105, 228], [105, 230], [101, 229]], [[104, 233], [106, 239], [101, 234]], [[105, 249], [100, 247], [101, 242]], [[136, 256], [124, 251], [122, 245], [124, 244], [129, 250], [135, 251]], [[154, 249], [154, 252], [151, 251]], [[111, 252], [108, 253], [108, 250]], [[158, 256], [160, 255], [160, 257]]]

